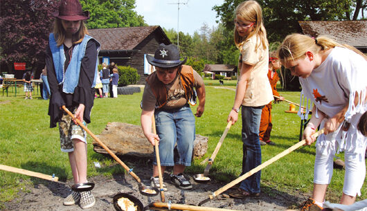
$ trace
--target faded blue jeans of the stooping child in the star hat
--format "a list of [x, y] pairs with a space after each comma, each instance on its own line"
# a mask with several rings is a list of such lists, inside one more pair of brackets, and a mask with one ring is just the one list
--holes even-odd
[[[195, 117], [190, 106], [185, 105], [179, 109], [156, 110], [154, 117], [156, 133], [159, 136], [161, 165], [190, 166], [195, 140]], [[178, 155], [174, 156], [174, 145], [176, 143]], [[153, 164], [156, 165], [155, 156]]]

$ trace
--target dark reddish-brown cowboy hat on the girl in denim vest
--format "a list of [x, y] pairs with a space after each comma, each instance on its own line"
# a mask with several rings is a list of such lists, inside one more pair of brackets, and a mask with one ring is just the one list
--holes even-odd
[[82, 5], [79, 0], [62, 0], [59, 10], [51, 12], [51, 15], [66, 21], [89, 19], [89, 11], [82, 11]]

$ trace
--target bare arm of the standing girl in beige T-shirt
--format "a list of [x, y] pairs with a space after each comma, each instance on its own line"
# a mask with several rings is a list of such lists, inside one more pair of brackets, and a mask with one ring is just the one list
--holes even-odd
[[[246, 92], [247, 89], [247, 83], [249, 82], [250, 74], [253, 69], [252, 65], [245, 64], [243, 62], [238, 64], [238, 66], [241, 68], [241, 74], [235, 91], [235, 102], [233, 104], [233, 108], [235, 109], [240, 108], [242, 104], [244, 93]], [[229, 122], [230, 120], [232, 120], [232, 125], [234, 125], [235, 122], [237, 122], [238, 120], [238, 113], [233, 109], [231, 110], [231, 112], [229, 112], [227, 122]]]

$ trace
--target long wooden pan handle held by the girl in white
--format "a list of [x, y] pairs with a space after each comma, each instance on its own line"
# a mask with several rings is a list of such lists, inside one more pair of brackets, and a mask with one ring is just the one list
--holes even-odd
[[[321, 129], [321, 130], [317, 131], [312, 136], [314, 136], [316, 138], [320, 134], [323, 134], [323, 132], [324, 132], [324, 129]], [[261, 165], [258, 165], [257, 167], [251, 169], [246, 174], [243, 174], [239, 178], [236, 178], [234, 181], [231, 181], [231, 183], [228, 183], [228, 184], [224, 185], [224, 187], [221, 187], [219, 190], [215, 191], [212, 195], [210, 195], [209, 198], [210, 199], [214, 199], [215, 196], [217, 196], [217, 195], [221, 194], [222, 192], [228, 190], [229, 188], [233, 187], [233, 185], [236, 185], [237, 183], [240, 183], [240, 181], [243, 181], [245, 178], [251, 176], [252, 174], [255, 174], [256, 172], [258, 172], [261, 169], [267, 167], [271, 163], [274, 163], [276, 160], [279, 160], [280, 158], [283, 158], [283, 156], [286, 156], [287, 154], [293, 152], [295, 149], [297, 149], [298, 147], [301, 147], [305, 143], [306, 143], [306, 140], [303, 139], [300, 142], [298, 142], [295, 145], [293, 145], [292, 147], [289, 147], [288, 149], [285, 149], [283, 152], [280, 152], [280, 154], [277, 154], [273, 158], [267, 160], [265, 163], [262, 163]]]

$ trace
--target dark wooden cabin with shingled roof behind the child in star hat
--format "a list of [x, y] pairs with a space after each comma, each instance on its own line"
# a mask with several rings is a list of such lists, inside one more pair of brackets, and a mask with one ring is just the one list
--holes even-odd
[[99, 62], [115, 62], [120, 66], [132, 66], [138, 70], [138, 84], [145, 84], [145, 77], [154, 71], [147, 63], [146, 55], [154, 55], [159, 44], [171, 44], [160, 26], [127, 28], [98, 28], [89, 34], [101, 44]]

